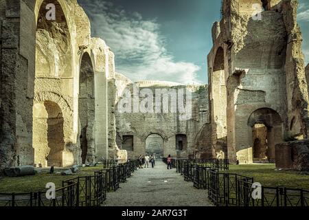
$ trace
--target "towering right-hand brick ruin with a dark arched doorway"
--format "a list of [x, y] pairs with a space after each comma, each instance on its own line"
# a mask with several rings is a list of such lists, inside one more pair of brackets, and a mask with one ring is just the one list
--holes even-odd
[[[253, 7], [253, 4], [255, 6]], [[257, 14], [256, 5], [260, 5]], [[262, 10], [264, 8], [264, 10]], [[292, 138], [307, 138], [308, 88], [301, 52], [301, 32], [296, 21], [297, 1], [225, 0], [220, 30], [214, 24], [214, 47], [208, 56], [209, 87], [218, 87], [219, 63], [227, 93], [211, 89], [213, 127], [226, 123], [227, 158], [231, 162], [253, 162], [253, 126], [267, 126], [270, 161], [275, 144]], [[220, 34], [218, 32], [220, 31]], [[221, 76], [222, 77], [222, 76]], [[216, 96], [227, 97], [226, 114], [216, 109]], [[220, 106], [225, 106], [221, 105]], [[220, 117], [226, 118], [220, 120]], [[218, 117], [220, 115], [220, 117]], [[213, 143], [218, 132], [213, 129]], [[283, 131], [283, 132], [282, 132]]]

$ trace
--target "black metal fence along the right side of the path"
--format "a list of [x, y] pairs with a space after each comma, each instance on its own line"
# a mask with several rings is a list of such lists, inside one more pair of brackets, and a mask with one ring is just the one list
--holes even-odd
[[208, 198], [216, 206], [309, 205], [309, 190], [260, 186], [258, 192], [252, 177], [220, 172], [218, 168], [188, 162], [178, 166], [177, 170], [183, 172], [185, 180], [193, 181], [198, 189], [207, 189]]

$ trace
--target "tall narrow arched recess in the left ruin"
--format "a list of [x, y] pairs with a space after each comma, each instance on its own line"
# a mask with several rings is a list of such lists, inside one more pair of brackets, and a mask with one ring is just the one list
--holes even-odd
[[93, 151], [95, 145], [95, 97], [93, 66], [88, 53], [84, 53], [80, 63], [78, 115], [80, 118], [80, 148], [82, 149], [82, 164], [91, 163], [93, 162]]

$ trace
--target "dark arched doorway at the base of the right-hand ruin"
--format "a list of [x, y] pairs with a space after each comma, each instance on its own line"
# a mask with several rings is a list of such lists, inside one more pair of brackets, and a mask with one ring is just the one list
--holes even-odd
[[283, 141], [282, 119], [273, 109], [258, 109], [248, 120], [252, 134], [253, 162], [275, 162], [275, 144]]

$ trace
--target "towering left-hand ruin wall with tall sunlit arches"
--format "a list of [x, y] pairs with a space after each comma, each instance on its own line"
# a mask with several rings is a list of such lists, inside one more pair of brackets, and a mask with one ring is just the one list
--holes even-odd
[[[54, 21], [47, 3], [56, 6]], [[1, 0], [0, 16], [0, 170], [70, 166], [82, 154], [86, 163], [107, 158], [114, 56], [91, 38], [84, 10], [76, 0]]]

